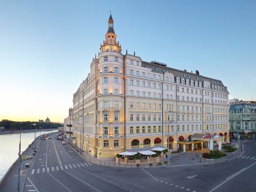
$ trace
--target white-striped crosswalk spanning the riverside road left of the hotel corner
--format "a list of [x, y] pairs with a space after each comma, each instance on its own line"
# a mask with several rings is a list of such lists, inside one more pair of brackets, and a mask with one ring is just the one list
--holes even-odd
[[68, 169], [75, 169], [78, 167], [84, 167], [84, 166], [91, 166], [93, 165], [90, 162], [83, 162], [83, 163], [76, 163], [76, 164], [67, 164], [64, 166], [51, 166], [51, 167], [41, 167], [41, 168], [37, 168], [37, 169], [33, 169], [31, 171], [31, 174], [39, 174], [39, 173], [45, 173], [45, 172], [54, 172], [54, 171], [60, 171], [60, 170], [68, 170]]

